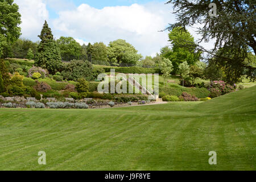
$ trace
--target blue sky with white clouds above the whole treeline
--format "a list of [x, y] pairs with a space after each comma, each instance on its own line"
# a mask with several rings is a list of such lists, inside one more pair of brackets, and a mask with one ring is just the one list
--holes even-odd
[[[170, 45], [168, 23], [175, 23], [172, 5], [163, 0], [14, 0], [22, 15], [21, 38], [40, 40], [44, 20], [56, 39], [72, 36], [80, 44], [125, 39], [143, 56], [155, 56]], [[189, 32], [200, 39], [195, 28]], [[213, 42], [201, 43], [212, 48]]]

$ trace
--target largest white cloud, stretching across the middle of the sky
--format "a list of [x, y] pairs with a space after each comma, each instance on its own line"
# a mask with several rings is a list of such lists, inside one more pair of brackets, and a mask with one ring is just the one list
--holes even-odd
[[82, 4], [76, 10], [60, 11], [53, 27], [67, 36], [87, 42], [108, 44], [125, 39], [143, 56], [154, 55], [168, 44], [168, 32], [163, 30], [173, 22], [170, 5], [164, 3], [133, 4], [131, 6], [95, 9]]

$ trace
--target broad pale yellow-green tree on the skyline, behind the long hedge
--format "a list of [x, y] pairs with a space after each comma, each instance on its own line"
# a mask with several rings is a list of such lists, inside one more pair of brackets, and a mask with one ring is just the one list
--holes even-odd
[[125, 40], [118, 39], [109, 43], [108, 47], [109, 62], [112, 65], [136, 65], [139, 59], [142, 59], [142, 55], [138, 54], [138, 51]]

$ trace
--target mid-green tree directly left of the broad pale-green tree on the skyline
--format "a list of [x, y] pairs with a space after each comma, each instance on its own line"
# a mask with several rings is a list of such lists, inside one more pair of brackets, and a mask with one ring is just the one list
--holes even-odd
[[92, 60], [108, 63], [108, 47], [103, 42], [94, 43], [92, 46]]

